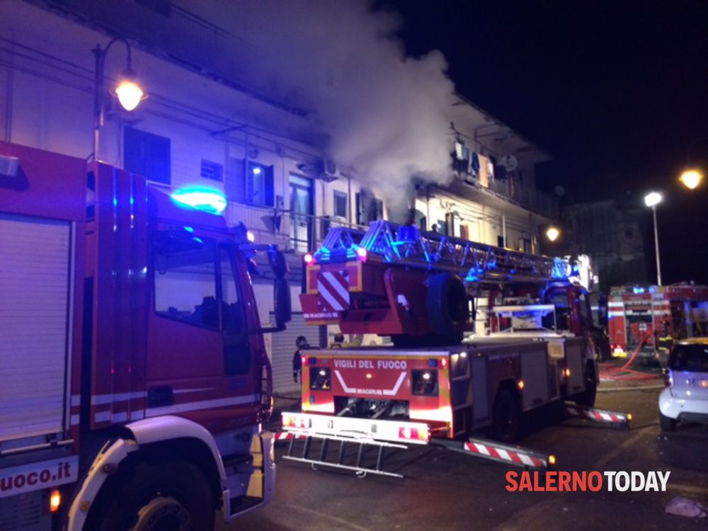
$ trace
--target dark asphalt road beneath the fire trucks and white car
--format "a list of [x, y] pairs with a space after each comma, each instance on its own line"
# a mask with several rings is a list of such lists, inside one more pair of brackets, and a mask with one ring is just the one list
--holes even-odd
[[[603, 382], [601, 389], [660, 382]], [[278, 459], [275, 501], [229, 529], [285, 530], [666, 530], [704, 529], [707, 519], [665, 513], [675, 496], [708, 505], [708, 426], [663, 435], [659, 389], [607, 391], [596, 406], [629, 411], [632, 428], [617, 430], [569, 419], [532, 428], [525, 447], [556, 455], [557, 470], [670, 471], [666, 492], [508, 492], [510, 467], [469, 455], [419, 447], [392, 456], [404, 479], [315, 472]], [[537, 423], [535, 423], [537, 424]], [[280, 447], [277, 456], [282, 456]]]

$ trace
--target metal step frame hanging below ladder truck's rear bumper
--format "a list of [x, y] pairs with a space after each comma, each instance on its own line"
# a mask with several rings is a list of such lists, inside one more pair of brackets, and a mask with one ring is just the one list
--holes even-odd
[[[384, 450], [408, 450], [408, 446], [396, 442], [384, 442], [357, 435], [312, 434], [307, 431], [290, 430], [278, 440], [288, 440], [287, 454], [282, 459], [309, 463], [312, 469], [328, 467], [352, 471], [359, 478], [367, 474], [402, 478], [403, 474], [387, 472], [384, 467]], [[296, 441], [302, 440], [302, 449], [297, 451]], [[332, 452], [330, 445], [339, 447]], [[372, 451], [373, 450], [373, 451]]]

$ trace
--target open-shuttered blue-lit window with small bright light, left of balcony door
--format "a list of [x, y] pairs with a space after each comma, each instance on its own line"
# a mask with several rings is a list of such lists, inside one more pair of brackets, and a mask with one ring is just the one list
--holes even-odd
[[229, 158], [226, 193], [227, 198], [235, 202], [273, 207], [275, 205], [273, 166]]

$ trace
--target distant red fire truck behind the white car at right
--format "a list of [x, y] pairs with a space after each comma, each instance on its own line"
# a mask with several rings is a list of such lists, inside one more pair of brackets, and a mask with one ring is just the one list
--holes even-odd
[[624, 358], [647, 338], [641, 355], [654, 357], [656, 333], [668, 325], [674, 340], [708, 336], [708, 287], [691, 284], [623, 286], [610, 292], [612, 355]]

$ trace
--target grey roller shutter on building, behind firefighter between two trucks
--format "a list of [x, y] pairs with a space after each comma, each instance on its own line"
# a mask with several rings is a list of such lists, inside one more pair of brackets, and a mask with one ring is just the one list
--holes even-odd
[[[270, 314], [270, 324], [275, 326], [275, 316]], [[273, 390], [276, 393], [299, 392], [300, 384], [292, 381], [292, 355], [295, 354], [297, 336], [305, 336], [310, 345], [319, 346], [319, 326], [305, 324], [302, 314], [292, 314], [292, 321], [282, 332], [271, 334], [270, 364], [273, 365]]]

